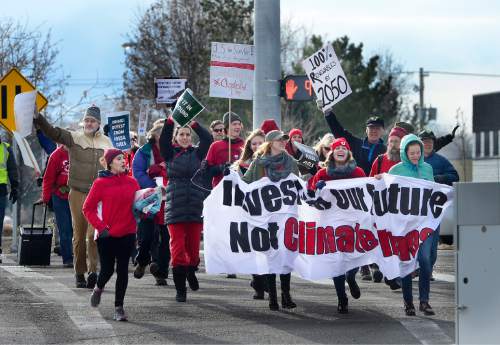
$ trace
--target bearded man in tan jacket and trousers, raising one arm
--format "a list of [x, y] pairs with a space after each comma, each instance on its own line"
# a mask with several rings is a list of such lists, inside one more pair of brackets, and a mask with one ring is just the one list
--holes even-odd
[[[109, 138], [99, 130], [101, 111], [95, 105], [86, 110], [82, 120], [83, 131], [68, 131], [53, 127], [37, 112], [34, 123], [47, 137], [68, 148], [69, 205], [73, 222], [76, 287], [93, 289], [97, 282], [97, 246], [94, 241], [94, 229], [89, 226], [85, 219], [82, 207], [92, 183], [97, 178], [97, 172], [101, 168], [99, 159], [103, 156], [105, 149], [113, 147]], [[89, 273], [87, 281], [85, 280], [85, 272]]]

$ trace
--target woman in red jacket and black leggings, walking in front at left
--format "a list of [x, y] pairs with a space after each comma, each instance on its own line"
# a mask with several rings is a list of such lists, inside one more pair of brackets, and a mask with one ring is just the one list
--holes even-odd
[[127, 162], [123, 152], [108, 149], [102, 164], [107, 169], [99, 177], [83, 204], [83, 214], [96, 231], [101, 271], [90, 304], [97, 307], [104, 286], [113, 275], [116, 261], [115, 316], [126, 321], [123, 300], [128, 285], [128, 262], [135, 242], [137, 223], [133, 214], [135, 192], [139, 184], [127, 175]]

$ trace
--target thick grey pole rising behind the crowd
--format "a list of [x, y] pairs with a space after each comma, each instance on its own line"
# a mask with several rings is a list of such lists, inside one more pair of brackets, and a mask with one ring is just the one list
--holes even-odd
[[280, 0], [255, 0], [253, 128], [273, 119], [281, 128]]

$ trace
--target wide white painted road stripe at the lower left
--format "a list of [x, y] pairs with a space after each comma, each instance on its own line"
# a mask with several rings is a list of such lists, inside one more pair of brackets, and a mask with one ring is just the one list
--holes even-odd
[[[10, 259], [6, 262], [14, 263]], [[60, 303], [85, 338], [92, 335], [92, 338], [105, 338], [106, 343], [118, 344], [113, 327], [104, 320], [97, 308], [90, 307], [89, 298], [77, 295], [66, 285], [28, 267], [2, 265], [0, 268], [16, 277], [28, 279], [45, 295]]]

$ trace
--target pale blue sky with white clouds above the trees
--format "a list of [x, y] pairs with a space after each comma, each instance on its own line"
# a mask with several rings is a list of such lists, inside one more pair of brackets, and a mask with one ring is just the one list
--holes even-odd
[[[2, 3], [0, 16], [52, 28], [59, 63], [72, 77], [71, 102], [85, 88], [81, 83], [97, 76], [121, 78], [125, 35], [152, 2], [18, 0]], [[500, 74], [500, 1], [282, 0], [281, 16], [310, 33], [363, 42], [366, 56], [389, 50], [407, 71]], [[417, 75], [412, 80], [417, 82]], [[431, 74], [425, 82], [426, 104], [437, 107], [440, 122], [450, 125], [458, 107], [470, 116], [472, 95], [500, 91], [500, 78]]]

